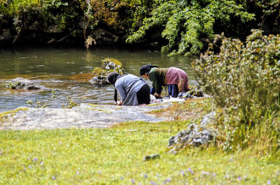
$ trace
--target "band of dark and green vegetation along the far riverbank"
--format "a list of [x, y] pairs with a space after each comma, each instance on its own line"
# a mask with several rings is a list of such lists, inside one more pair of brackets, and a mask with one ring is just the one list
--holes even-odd
[[93, 32], [102, 27], [120, 43], [158, 42], [162, 51], [198, 54], [214, 34], [244, 41], [252, 28], [279, 33], [279, 12], [278, 0], [1, 0], [0, 30], [11, 28], [15, 43], [38, 22], [37, 39], [59, 33], [60, 42], [94, 43]]

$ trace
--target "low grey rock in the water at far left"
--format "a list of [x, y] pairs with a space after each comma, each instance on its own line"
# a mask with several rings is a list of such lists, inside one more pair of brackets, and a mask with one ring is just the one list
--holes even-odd
[[37, 85], [34, 81], [30, 81], [25, 78], [15, 78], [11, 81], [9, 81], [6, 85], [6, 88], [12, 88], [15, 90], [42, 90], [45, 89], [42, 85]]

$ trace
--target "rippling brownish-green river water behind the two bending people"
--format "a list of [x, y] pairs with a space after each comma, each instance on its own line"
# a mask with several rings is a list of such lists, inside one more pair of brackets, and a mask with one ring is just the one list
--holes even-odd
[[[31, 100], [41, 106], [61, 108], [67, 97], [78, 103], [113, 104], [113, 85], [92, 85], [90, 72], [101, 67], [102, 60], [113, 57], [123, 63], [125, 73], [139, 76], [144, 64], [179, 67], [195, 83], [192, 57], [169, 57], [151, 50], [120, 48], [17, 48], [0, 50], [0, 112], [29, 107]], [[12, 90], [6, 88], [13, 78], [23, 77], [48, 90]], [[149, 85], [151, 82], [146, 80]], [[162, 93], [165, 95], [165, 92]]]

